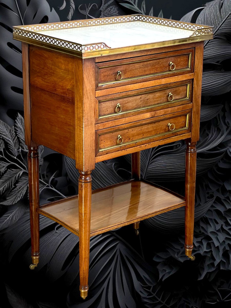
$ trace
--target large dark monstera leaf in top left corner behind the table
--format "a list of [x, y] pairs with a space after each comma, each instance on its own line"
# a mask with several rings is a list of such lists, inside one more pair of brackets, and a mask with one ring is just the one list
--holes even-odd
[[21, 42], [13, 40], [12, 26], [58, 22], [47, 0], [0, 0], [0, 118], [13, 125], [8, 109], [23, 110]]

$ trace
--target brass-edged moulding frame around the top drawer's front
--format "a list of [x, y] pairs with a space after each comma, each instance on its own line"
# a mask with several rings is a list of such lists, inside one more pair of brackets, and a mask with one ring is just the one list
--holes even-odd
[[[164, 72], [157, 72], [157, 73], [153, 73], [153, 74], [148, 74], [148, 75], [141, 75], [141, 76], [136, 76], [136, 77], [129, 77], [129, 78], [124, 78], [124, 79], [120, 79], [120, 80], [112, 80], [112, 81], [105, 81], [105, 82], [101, 82], [99, 83], [99, 69], [100, 68], [107, 68], [107, 67], [117, 67], [117, 66], [121, 66], [121, 65], [126, 65], [126, 64], [135, 64], [135, 63], [140, 63], [140, 62], [148, 62], [148, 61], [153, 61], [153, 60], [159, 60], [159, 59], [165, 59], [165, 58], [174, 58], [177, 56], [183, 56], [183, 55], [189, 55], [188, 56], [188, 67], [187, 68], [181, 68], [179, 70], [174, 70], [174, 71], [164, 71]], [[153, 76], [157, 76], [157, 75], [164, 75], [164, 74], [171, 74], [172, 72], [183, 72], [183, 71], [190, 71], [191, 70], [191, 64], [192, 64], [192, 52], [187, 52], [187, 53], [182, 53], [182, 54], [177, 54], [177, 55], [168, 55], [165, 57], [159, 57], [159, 58], [155, 58], [155, 59], [147, 59], [147, 60], [140, 60], [140, 61], [132, 61], [132, 62], [126, 62], [126, 63], [120, 63], [117, 65], [107, 65], [107, 66], [100, 66], [98, 67], [98, 75], [97, 75], [97, 79], [98, 79], [98, 86], [104, 86], [107, 84], [111, 84], [111, 83], [118, 83], [118, 82], [124, 82], [124, 81], [129, 81], [129, 80], [135, 80], [135, 79], [141, 79], [141, 78], [148, 78], [148, 77], [153, 77]]]

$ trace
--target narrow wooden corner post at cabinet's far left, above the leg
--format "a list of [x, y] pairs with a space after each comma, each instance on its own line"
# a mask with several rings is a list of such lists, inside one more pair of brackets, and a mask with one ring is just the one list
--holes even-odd
[[25, 144], [28, 147], [36, 147], [38, 144], [32, 140], [31, 130], [29, 47], [26, 43], [22, 43], [22, 80]]

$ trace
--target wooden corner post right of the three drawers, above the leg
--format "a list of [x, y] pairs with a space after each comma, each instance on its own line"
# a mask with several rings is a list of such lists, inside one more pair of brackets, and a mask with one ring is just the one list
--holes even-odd
[[192, 138], [191, 142], [197, 142], [200, 135], [201, 114], [201, 83], [203, 69], [204, 42], [199, 42], [195, 48], [195, 67], [193, 80], [193, 111], [192, 111]]

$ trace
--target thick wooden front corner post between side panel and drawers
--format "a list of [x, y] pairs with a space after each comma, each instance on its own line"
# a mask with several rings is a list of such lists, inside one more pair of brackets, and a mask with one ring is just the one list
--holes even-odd
[[95, 169], [95, 59], [75, 58], [75, 161]]

